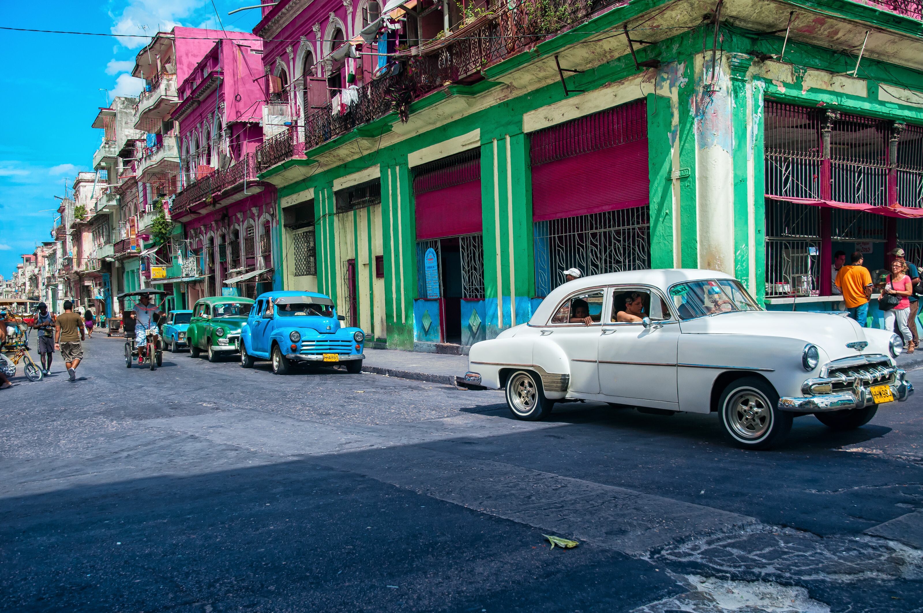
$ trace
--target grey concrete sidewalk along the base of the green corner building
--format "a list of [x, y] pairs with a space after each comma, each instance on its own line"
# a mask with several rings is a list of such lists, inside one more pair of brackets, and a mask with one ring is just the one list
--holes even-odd
[[[923, 349], [899, 355], [897, 365], [905, 370], [923, 366]], [[463, 377], [468, 370], [468, 356], [366, 348], [362, 369], [377, 375], [455, 385], [455, 377]]]

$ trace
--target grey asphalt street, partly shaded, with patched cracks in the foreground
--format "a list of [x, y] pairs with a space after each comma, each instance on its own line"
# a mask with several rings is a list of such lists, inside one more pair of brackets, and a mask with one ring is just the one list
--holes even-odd
[[0, 391], [3, 611], [923, 611], [923, 392], [757, 452], [714, 415], [86, 354]]

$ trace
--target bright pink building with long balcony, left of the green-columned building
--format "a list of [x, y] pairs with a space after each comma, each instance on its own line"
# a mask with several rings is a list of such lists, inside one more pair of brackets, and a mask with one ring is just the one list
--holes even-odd
[[272, 287], [276, 192], [257, 181], [254, 154], [263, 139], [262, 43], [252, 34], [212, 42], [177, 88], [181, 191], [171, 214], [201, 272], [188, 285], [190, 305]]

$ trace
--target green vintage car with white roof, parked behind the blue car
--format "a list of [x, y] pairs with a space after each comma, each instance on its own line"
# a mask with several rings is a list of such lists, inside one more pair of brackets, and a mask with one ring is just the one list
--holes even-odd
[[192, 307], [192, 320], [186, 331], [192, 356], [198, 357], [204, 351], [210, 362], [217, 362], [222, 355], [236, 354], [240, 327], [252, 306], [253, 300], [239, 296], [199, 298]]

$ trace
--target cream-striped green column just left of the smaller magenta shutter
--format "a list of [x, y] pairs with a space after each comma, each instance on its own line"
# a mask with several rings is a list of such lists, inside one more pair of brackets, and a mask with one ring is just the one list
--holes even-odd
[[414, 348], [416, 223], [406, 163], [381, 166], [385, 322], [390, 349]]

